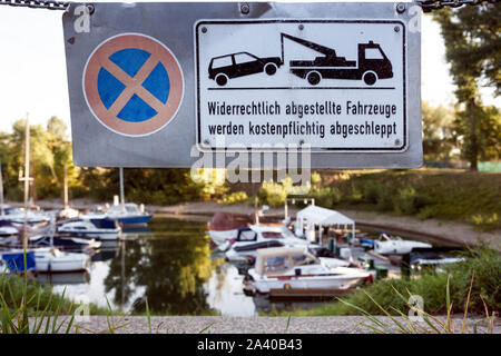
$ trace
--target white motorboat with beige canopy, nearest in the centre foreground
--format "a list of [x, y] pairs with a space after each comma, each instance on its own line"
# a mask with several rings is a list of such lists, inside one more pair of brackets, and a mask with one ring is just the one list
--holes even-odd
[[244, 279], [244, 293], [266, 295], [288, 289], [291, 295], [297, 290], [311, 295], [335, 295], [370, 280], [369, 271], [345, 267], [342, 263], [345, 261], [317, 258], [303, 247], [258, 249], [255, 267]]

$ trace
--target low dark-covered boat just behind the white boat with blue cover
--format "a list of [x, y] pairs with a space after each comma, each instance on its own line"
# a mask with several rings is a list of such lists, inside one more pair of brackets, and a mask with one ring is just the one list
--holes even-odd
[[55, 246], [63, 251], [89, 251], [101, 247], [100, 241], [73, 235], [37, 235], [29, 238], [31, 246]]

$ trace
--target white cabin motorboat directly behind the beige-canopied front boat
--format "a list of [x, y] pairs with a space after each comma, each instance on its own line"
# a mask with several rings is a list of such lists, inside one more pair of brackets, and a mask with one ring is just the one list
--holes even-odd
[[236, 239], [230, 239], [220, 249], [226, 248], [225, 257], [229, 261], [254, 261], [257, 249], [273, 247], [317, 246], [296, 237], [285, 226], [250, 225], [239, 229]]

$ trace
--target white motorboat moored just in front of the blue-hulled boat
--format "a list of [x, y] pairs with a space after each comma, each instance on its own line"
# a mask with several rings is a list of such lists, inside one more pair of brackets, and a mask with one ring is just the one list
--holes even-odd
[[101, 240], [118, 238], [120, 227], [107, 215], [81, 216], [77, 219], [63, 220], [57, 224], [57, 233], [71, 234], [77, 237], [95, 237]]

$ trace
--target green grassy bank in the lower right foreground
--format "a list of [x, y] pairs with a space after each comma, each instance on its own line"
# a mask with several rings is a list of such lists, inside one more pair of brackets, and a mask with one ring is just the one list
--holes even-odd
[[[474, 314], [483, 314], [485, 305], [493, 310], [501, 310], [501, 255], [487, 247], [477, 248], [471, 254], [471, 258], [446, 273], [430, 273], [410, 279], [376, 280], [353, 291], [343, 299], [345, 303], [337, 300], [312, 309], [287, 312], [287, 315], [358, 315], [356, 308], [377, 314], [381, 307], [399, 315], [396, 310], [409, 309], [409, 300], [402, 298], [409, 294], [421, 296], [423, 308], [430, 314], [464, 313], [466, 300], [469, 310]], [[445, 299], [451, 300], [451, 309], [443, 303]]]

